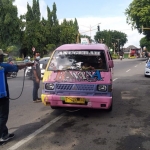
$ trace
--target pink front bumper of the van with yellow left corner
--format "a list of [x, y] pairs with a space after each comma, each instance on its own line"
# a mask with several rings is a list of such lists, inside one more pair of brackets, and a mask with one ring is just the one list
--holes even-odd
[[111, 96], [78, 96], [85, 99], [85, 104], [66, 103], [65, 98], [77, 98], [77, 96], [59, 96], [42, 94], [42, 102], [44, 105], [51, 107], [75, 107], [75, 108], [94, 108], [94, 109], [109, 109], [112, 105]]

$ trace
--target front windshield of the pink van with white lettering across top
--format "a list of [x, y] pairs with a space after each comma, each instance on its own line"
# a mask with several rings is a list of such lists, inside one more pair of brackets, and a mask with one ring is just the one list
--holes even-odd
[[57, 50], [48, 70], [107, 70], [104, 50]]

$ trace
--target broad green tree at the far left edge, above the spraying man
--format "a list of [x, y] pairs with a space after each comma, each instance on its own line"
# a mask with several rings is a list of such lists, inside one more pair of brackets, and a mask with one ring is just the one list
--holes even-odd
[[20, 44], [20, 21], [14, 0], [0, 0], [0, 47]]

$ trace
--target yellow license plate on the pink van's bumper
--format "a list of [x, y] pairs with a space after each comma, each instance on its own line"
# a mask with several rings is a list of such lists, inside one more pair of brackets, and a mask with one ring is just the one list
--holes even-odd
[[72, 97], [65, 97], [66, 103], [73, 103], [73, 104], [85, 104], [84, 98], [72, 98]]

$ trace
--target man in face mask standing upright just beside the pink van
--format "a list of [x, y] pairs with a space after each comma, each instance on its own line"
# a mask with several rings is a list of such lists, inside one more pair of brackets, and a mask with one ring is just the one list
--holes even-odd
[[41, 69], [40, 69], [40, 54], [34, 53], [34, 65], [32, 66], [32, 80], [33, 80], [33, 102], [41, 102], [38, 98], [38, 89], [40, 87]]

